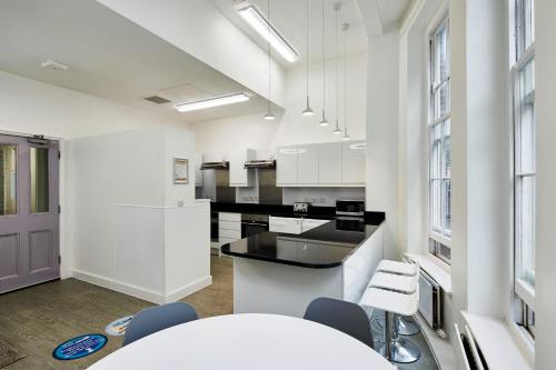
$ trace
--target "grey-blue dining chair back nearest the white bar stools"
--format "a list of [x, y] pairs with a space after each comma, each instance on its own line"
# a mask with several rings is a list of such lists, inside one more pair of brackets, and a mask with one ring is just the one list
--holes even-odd
[[331, 298], [317, 298], [307, 307], [304, 319], [342, 331], [374, 348], [369, 318], [359, 304]]

